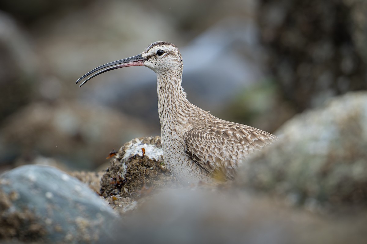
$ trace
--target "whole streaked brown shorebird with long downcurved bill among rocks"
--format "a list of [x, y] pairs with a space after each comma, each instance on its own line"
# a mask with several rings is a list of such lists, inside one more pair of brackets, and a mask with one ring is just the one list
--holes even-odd
[[141, 54], [101, 65], [76, 83], [81, 87], [97, 75], [129, 66], [145, 66], [157, 75], [163, 160], [182, 183], [233, 180], [244, 159], [277, 140], [261, 129], [219, 119], [191, 104], [181, 86], [181, 53], [169, 42], [153, 42]]

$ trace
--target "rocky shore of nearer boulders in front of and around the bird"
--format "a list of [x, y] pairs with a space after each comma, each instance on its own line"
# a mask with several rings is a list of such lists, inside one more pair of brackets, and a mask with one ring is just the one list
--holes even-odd
[[364, 243], [366, 121], [366, 93], [335, 98], [221, 185], [182, 186], [159, 136], [125, 143], [103, 172], [12, 169], [0, 176], [1, 243]]

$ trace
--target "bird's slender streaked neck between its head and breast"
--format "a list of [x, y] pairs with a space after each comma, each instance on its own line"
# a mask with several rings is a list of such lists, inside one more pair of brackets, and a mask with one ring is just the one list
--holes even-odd
[[187, 124], [192, 104], [181, 87], [182, 72], [157, 74], [158, 113], [163, 131]]

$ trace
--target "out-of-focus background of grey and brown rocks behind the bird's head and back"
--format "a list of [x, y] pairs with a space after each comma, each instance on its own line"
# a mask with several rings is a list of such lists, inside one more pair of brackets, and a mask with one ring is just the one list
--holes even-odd
[[154, 41], [180, 49], [190, 102], [273, 133], [367, 88], [366, 13], [365, 0], [1, 0], [0, 172], [93, 170], [128, 140], [160, 135], [148, 68], [75, 85]]

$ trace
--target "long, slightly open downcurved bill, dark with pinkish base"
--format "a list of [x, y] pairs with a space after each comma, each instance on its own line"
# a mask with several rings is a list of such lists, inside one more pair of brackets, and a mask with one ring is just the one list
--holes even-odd
[[[110, 71], [110, 70], [115, 70], [118, 68], [123, 68], [123, 67], [129, 67], [129, 66], [144, 66], [144, 61], [146, 61], [145, 58], [143, 58], [141, 56], [141, 54], [134, 56], [134, 57], [129, 57], [127, 59], [121, 59], [121, 60], [117, 60], [115, 62], [111, 62], [108, 64], [103, 64], [97, 68], [95, 68], [94, 70], [89, 71], [87, 74], [81, 76], [77, 81], [76, 84], [81, 82], [82, 80], [84, 80], [79, 87], [83, 86], [88, 80], [92, 79], [94, 76], [97, 76], [99, 74], [102, 74], [104, 72]], [[88, 77], [89, 76], [89, 77]]]

